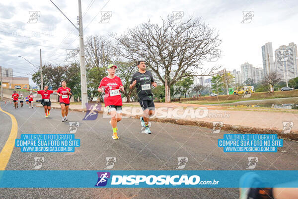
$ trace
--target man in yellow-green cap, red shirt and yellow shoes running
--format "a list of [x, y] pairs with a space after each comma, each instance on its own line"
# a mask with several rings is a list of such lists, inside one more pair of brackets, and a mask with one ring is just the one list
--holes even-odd
[[98, 92], [104, 90], [104, 105], [108, 108], [108, 113], [111, 114], [110, 124], [113, 128], [113, 139], [119, 139], [117, 135], [117, 122], [119, 122], [122, 112], [122, 98], [120, 91], [124, 91], [124, 87], [119, 77], [115, 75], [117, 66], [110, 64], [108, 66], [107, 77], [104, 77], [98, 87]]

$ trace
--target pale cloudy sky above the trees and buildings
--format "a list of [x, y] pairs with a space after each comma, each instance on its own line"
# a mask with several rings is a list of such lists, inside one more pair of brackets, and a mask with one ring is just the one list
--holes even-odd
[[[77, 26], [78, 1], [52, 0]], [[161, 23], [173, 11], [182, 11], [183, 19], [202, 17], [222, 39], [221, 57], [204, 63], [205, 68], [221, 65], [240, 71], [249, 62], [262, 67], [261, 47], [272, 42], [273, 53], [281, 45], [298, 44], [298, 4], [295, 0], [82, 0], [84, 38], [90, 35], [124, 33], [127, 28], [148, 22]], [[29, 11], [39, 11], [31, 20]], [[103, 11], [111, 17], [99, 23]], [[243, 11], [252, 11], [243, 20]], [[15, 77], [29, 77], [42, 64], [63, 65], [67, 49], [79, 45], [78, 31], [50, 0], [0, 1], [0, 66], [13, 68]], [[29, 79], [30, 85], [35, 83]]]

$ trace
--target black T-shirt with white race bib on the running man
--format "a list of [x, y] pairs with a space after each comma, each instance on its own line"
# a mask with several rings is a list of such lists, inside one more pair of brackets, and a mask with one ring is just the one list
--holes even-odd
[[131, 84], [137, 80], [137, 93], [139, 100], [153, 100], [153, 94], [151, 92], [151, 82], [154, 82], [151, 72], [146, 71], [140, 73], [139, 71], [133, 75]]

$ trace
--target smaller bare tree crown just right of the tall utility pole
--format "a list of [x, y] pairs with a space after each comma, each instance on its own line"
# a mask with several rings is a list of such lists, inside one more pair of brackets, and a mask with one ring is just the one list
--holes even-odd
[[88, 68], [105, 67], [115, 58], [112, 41], [105, 36], [89, 36], [85, 43], [85, 59]]

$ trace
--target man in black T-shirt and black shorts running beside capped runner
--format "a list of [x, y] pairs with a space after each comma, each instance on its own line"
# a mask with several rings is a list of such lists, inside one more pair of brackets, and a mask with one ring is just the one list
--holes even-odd
[[155, 110], [151, 85], [156, 87], [157, 84], [154, 82], [151, 72], [146, 71], [144, 61], [139, 61], [137, 66], [139, 71], [133, 75], [129, 88], [134, 89], [135, 86], [137, 87], [139, 102], [144, 111], [144, 116], [140, 117], [141, 125], [146, 128], [145, 133], [150, 134], [149, 116], [154, 114]]

